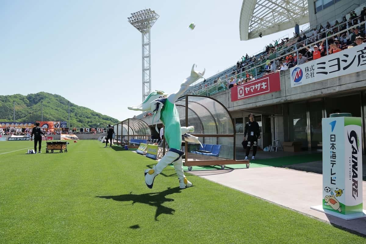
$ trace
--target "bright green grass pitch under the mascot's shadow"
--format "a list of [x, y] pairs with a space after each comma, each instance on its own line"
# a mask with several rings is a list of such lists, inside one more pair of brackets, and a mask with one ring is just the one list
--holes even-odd
[[32, 145], [0, 142], [1, 244], [366, 242], [197, 176], [181, 190], [170, 166], [148, 189], [143, 170], [156, 161], [96, 140], [25, 154]]

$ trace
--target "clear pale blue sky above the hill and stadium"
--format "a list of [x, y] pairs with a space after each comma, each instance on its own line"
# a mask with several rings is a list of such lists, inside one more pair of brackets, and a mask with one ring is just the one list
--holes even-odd
[[[0, 1], [0, 95], [45, 91], [123, 120], [142, 100], [141, 33], [130, 13], [151, 8], [152, 90], [171, 93], [193, 63], [208, 78], [293, 29], [239, 39], [242, 1]], [[193, 31], [187, 26], [195, 22]], [[4, 89], [5, 88], [5, 89]]]

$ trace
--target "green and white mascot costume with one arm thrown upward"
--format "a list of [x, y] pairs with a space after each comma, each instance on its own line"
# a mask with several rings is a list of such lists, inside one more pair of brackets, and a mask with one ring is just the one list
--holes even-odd
[[[155, 117], [157, 117], [156, 121], [160, 119], [164, 124], [164, 137], [168, 142], [170, 149], [168, 153], [160, 159], [157, 165], [154, 165], [152, 169], [145, 170], [145, 183], [149, 188], [153, 188], [155, 177], [160, 174], [161, 171], [163, 171], [163, 169], [168, 166], [168, 164], [171, 163], [173, 163], [175, 172], [179, 178], [179, 187], [186, 188], [192, 186], [192, 183], [188, 181], [184, 175], [182, 167], [182, 155], [184, 154], [184, 152], [180, 150], [182, 145], [182, 135], [184, 140], [187, 142], [201, 143], [198, 141], [197, 137], [187, 134], [187, 132], [194, 131], [193, 126], [180, 127], [179, 114], [174, 103], [192, 83], [197, 81], [199, 78], [203, 78], [205, 70], [203, 70], [201, 73], [195, 71], [194, 67], [195, 64], [192, 67], [191, 75], [184, 80], [182, 85], [180, 85], [179, 91], [176, 93], [168, 95], [164, 94], [163, 91], [153, 91], [142, 104], [128, 107], [128, 109], [131, 110], [151, 111], [154, 114], [153, 124], [154, 119], [156, 119]], [[157, 125], [155, 128], [158, 132]]]

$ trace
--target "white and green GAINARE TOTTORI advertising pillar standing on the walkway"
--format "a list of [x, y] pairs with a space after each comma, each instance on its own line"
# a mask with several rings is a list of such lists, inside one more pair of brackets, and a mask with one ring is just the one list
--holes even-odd
[[[361, 118], [322, 119], [322, 210], [343, 219], [364, 217], [362, 209]], [[317, 207], [313, 207], [320, 210]]]

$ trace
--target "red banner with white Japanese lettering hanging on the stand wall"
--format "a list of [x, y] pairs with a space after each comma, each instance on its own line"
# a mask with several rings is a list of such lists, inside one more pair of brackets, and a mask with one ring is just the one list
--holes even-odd
[[231, 88], [231, 101], [254, 97], [281, 90], [280, 73], [266, 75], [243, 85]]

